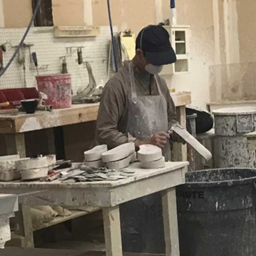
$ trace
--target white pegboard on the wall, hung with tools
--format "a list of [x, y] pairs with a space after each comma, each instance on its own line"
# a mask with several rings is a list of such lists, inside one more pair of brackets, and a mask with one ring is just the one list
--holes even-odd
[[[114, 32], [117, 27], [114, 27]], [[0, 44], [11, 40], [7, 44], [7, 51], [3, 53], [4, 66], [12, 57], [15, 48], [18, 45], [26, 28], [0, 28]], [[96, 37], [79, 37], [79, 38], [54, 38], [53, 27], [31, 28], [25, 40], [26, 44], [31, 46], [31, 53], [36, 52], [39, 75], [57, 74], [61, 72], [62, 60], [60, 56], [67, 55], [66, 47], [84, 47], [83, 60], [89, 61], [92, 66], [92, 72], [96, 83], [100, 84], [101, 80], [106, 82], [109, 42], [111, 40], [110, 28], [100, 27], [100, 36]], [[84, 88], [89, 83], [89, 77], [85, 65], [78, 65], [76, 48], [72, 49], [74, 53], [67, 57], [68, 73], [72, 76], [72, 89], [74, 94], [80, 88]], [[0, 89], [24, 87], [24, 70], [23, 65], [18, 63], [16, 57], [8, 70], [0, 78]], [[26, 49], [25, 73], [27, 87], [36, 86], [37, 75], [34, 63], [30, 63], [29, 49]], [[44, 69], [48, 65], [47, 69]], [[42, 69], [41, 69], [42, 68]]]

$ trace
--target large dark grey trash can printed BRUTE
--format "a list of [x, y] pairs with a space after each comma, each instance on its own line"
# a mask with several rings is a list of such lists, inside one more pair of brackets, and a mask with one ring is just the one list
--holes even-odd
[[176, 188], [180, 255], [255, 256], [256, 169], [190, 172]]

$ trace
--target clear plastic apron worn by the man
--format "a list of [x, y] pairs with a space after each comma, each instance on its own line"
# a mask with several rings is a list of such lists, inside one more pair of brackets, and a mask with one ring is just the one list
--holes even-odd
[[[149, 140], [156, 132], [168, 131], [167, 102], [159, 87], [159, 76], [155, 76], [159, 95], [137, 96], [132, 62], [129, 62], [130, 90], [128, 98], [128, 122], [126, 132], [139, 140]], [[168, 141], [163, 148], [165, 161], [171, 161]]]

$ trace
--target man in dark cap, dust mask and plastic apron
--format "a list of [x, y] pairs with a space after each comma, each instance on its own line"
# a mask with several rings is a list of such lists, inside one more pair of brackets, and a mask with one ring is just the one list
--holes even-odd
[[[136, 39], [136, 55], [105, 85], [96, 128], [97, 144], [115, 148], [126, 142], [152, 144], [171, 160], [167, 131], [177, 123], [169, 89], [157, 74], [176, 61], [169, 34], [161, 26], [143, 28]], [[181, 138], [172, 133], [172, 141]]]

